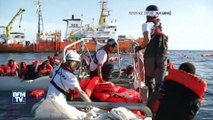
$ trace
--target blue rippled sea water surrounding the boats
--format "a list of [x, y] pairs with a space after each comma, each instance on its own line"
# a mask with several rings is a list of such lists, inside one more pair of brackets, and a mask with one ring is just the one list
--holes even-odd
[[[47, 56], [54, 53], [0, 53], [0, 64], [7, 64], [9, 59], [18, 62], [34, 60], [45, 61]], [[175, 68], [183, 62], [191, 62], [196, 67], [196, 75], [205, 80], [208, 88], [204, 102], [195, 120], [212, 120], [213, 118], [213, 57], [202, 57], [202, 54], [213, 54], [213, 51], [194, 51], [194, 50], [170, 50], [169, 59], [174, 63]], [[130, 56], [122, 56], [122, 67], [131, 64]], [[1, 78], [0, 78], [1, 79]], [[27, 91], [29, 93], [29, 91]], [[32, 106], [41, 98], [27, 97], [26, 104], [12, 104], [12, 91], [0, 91], [0, 120], [13, 120], [21, 117], [32, 117]]]

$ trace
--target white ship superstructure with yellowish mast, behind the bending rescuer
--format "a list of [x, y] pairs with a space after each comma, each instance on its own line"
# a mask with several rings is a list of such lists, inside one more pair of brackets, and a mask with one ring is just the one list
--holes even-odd
[[101, 1], [101, 14], [98, 25], [83, 24], [82, 19], [75, 19], [72, 15], [71, 19], [63, 19], [67, 22], [67, 29], [65, 33], [66, 41], [76, 41], [82, 37], [91, 38], [96, 37], [102, 42], [106, 42], [109, 38], [117, 39], [117, 23], [116, 20], [110, 23], [106, 22], [110, 15], [107, 9], [107, 1]]

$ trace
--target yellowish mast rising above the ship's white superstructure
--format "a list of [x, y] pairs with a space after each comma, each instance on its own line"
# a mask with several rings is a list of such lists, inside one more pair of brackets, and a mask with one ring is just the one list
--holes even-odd
[[106, 17], [109, 16], [109, 10], [107, 10], [107, 1], [102, 0], [101, 3], [101, 15], [99, 19], [99, 25], [105, 26], [106, 25]]

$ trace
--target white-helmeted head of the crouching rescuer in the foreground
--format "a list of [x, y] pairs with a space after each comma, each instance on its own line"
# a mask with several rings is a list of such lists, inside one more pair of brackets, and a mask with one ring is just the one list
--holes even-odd
[[66, 55], [66, 64], [68, 64], [73, 71], [79, 68], [80, 60], [80, 55], [74, 51]]

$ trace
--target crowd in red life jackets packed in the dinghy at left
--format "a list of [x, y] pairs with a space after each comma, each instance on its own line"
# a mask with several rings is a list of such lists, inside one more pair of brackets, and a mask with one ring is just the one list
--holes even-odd
[[49, 75], [53, 68], [60, 64], [59, 53], [54, 56], [48, 56], [47, 60], [41, 62], [39, 60], [18, 63], [16, 60], [10, 59], [6, 65], [0, 66], [0, 76], [16, 76], [22, 80], [34, 80], [36, 78]]

